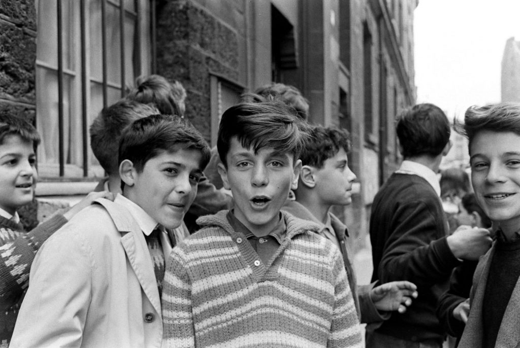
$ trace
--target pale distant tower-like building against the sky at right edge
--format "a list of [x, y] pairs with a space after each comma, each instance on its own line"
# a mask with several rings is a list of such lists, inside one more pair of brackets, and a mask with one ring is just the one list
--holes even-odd
[[520, 102], [520, 41], [506, 41], [502, 56], [502, 101]]

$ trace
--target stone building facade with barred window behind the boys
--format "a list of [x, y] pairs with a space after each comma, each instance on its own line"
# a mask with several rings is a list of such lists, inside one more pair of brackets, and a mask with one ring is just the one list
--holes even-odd
[[186, 115], [211, 144], [219, 115], [274, 81], [303, 92], [310, 122], [350, 131], [358, 183], [335, 212], [354, 248], [365, 243], [373, 196], [401, 159], [395, 116], [415, 101], [418, 0], [0, 2], [0, 112], [42, 133], [38, 209], [94, 188], [103, 173], [88, 125], [136, 76], [181, 82]]

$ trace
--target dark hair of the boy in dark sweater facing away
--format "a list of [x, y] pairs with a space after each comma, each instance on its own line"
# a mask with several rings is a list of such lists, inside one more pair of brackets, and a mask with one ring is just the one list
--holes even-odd
[[450, 140], [450, 124], [444, 111], [433, 104], [417, 104], [403, 111], [397, 120], [397, 137], [406, 158], [438, 156]]

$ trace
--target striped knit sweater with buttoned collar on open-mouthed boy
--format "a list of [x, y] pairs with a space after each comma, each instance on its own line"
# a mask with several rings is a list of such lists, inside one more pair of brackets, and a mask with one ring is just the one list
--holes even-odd
[[163, 346], [361, 347], [340, 252], [318, 225], [282, 213], [287, 234], [267, 265], [227, 210], [197, 221], [166, 266]]

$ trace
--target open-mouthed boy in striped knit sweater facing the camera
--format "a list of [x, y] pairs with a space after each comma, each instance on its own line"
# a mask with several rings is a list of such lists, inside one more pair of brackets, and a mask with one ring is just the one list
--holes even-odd
[[219, 171], [235, 208], [168, 261], [165, 346], [360, 346], [341, 256], [319, 226], [280, 212], [297, 185], [300, 121], [280, 102], [243, 103], [222, 115]]

